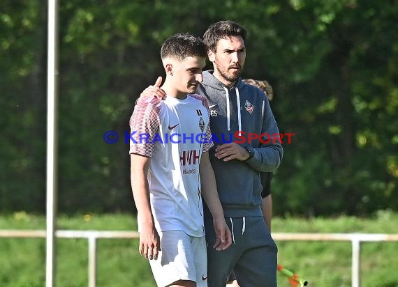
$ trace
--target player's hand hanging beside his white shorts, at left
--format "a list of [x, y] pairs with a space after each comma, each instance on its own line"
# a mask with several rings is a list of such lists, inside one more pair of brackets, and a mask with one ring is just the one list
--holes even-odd
[[[147, 226], [146, 226], [147, 225]], [[157, 259], [161, 250], [161, 240], [158, 231], [152, 224], [145, 224], [140, 231], [140, 247], [138, 251], [145, 259]]]

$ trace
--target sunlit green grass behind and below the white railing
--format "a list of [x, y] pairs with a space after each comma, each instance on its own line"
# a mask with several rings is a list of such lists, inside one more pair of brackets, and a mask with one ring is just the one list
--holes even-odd
[[[397, 233], [398, 213], [378, 212], [371, 218], [275, 218], [273, 232]], [[16, 212], [0, 216], [0, 229], [44, 229], [45, 217]], [[135, 230], [131, 215], [60, 215], [58, 229]], [[279, 241], [279, 263], [309, 281], [309, 286], [351, 286], [351, 242]], [[87, 286], [88, 243], [57, 239], [57, 287]], [[45, 286], [45, 240], [0, 238], [0, 286]], [[398, 286], [398, 242], [362, 242], [363, 287]], [[288, 280], [278, 272], [279, 287]], [[138, 240], [99, 239], [98, 287], [155, 286]]]

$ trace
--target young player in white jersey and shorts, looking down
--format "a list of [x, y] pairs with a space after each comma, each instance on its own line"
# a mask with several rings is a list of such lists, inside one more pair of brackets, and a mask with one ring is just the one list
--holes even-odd
[[[165, 40], [161, 59], [165, 101], [139, 100], [131, 116], [131, 187], [138, 210], [140, 254], [158, 286], [207, 286], [202, 196], [212, 212], [214, 249], [232, 243], [208, 150], [213, 145], [202, 82], [206, 46], [177, 34]], [[159, 256], [159, 258], [158, 258]]]

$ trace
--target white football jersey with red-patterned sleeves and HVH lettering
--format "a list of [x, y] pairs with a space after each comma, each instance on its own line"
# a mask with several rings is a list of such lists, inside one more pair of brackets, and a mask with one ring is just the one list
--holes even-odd
[[204, 235], [199, 163], [213, 145], [205, 98], [139, 100], [130, 128], [130, 153], [152, 157], [147, 179], [156, 229]]

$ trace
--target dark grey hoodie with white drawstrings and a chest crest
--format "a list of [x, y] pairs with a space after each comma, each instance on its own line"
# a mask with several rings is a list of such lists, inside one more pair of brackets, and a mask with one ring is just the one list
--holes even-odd
[[[214, 135], [214, 147], [209, 151], [216, 175], [217, 189], [226, 217], [262, 216], [260, 171], [274, 171], [282, 160], [283, 149], [279, 141], [270, 139], [261, 143], [258, 139], [248, 142], [248, 134], [279, 134], [270, 104], [263, 91], [237, 79], [235, 86], [228, 89], [212, 75], [202, 73], [203, 82], [197, 93], [209, 102], [210, 128]], [[236, 137], [242, 131], [243, 137]], [[240, 141], [249, 146], [253, 157], [246, 162], [231, 160], [223, 162], [214, 156], [215, 146]], [[263, 137], [267, 141], [268, 137]], [[219, 141], [219, 142], [218, 142]], [[211, 217], [205, 208], [205, 216]]]

